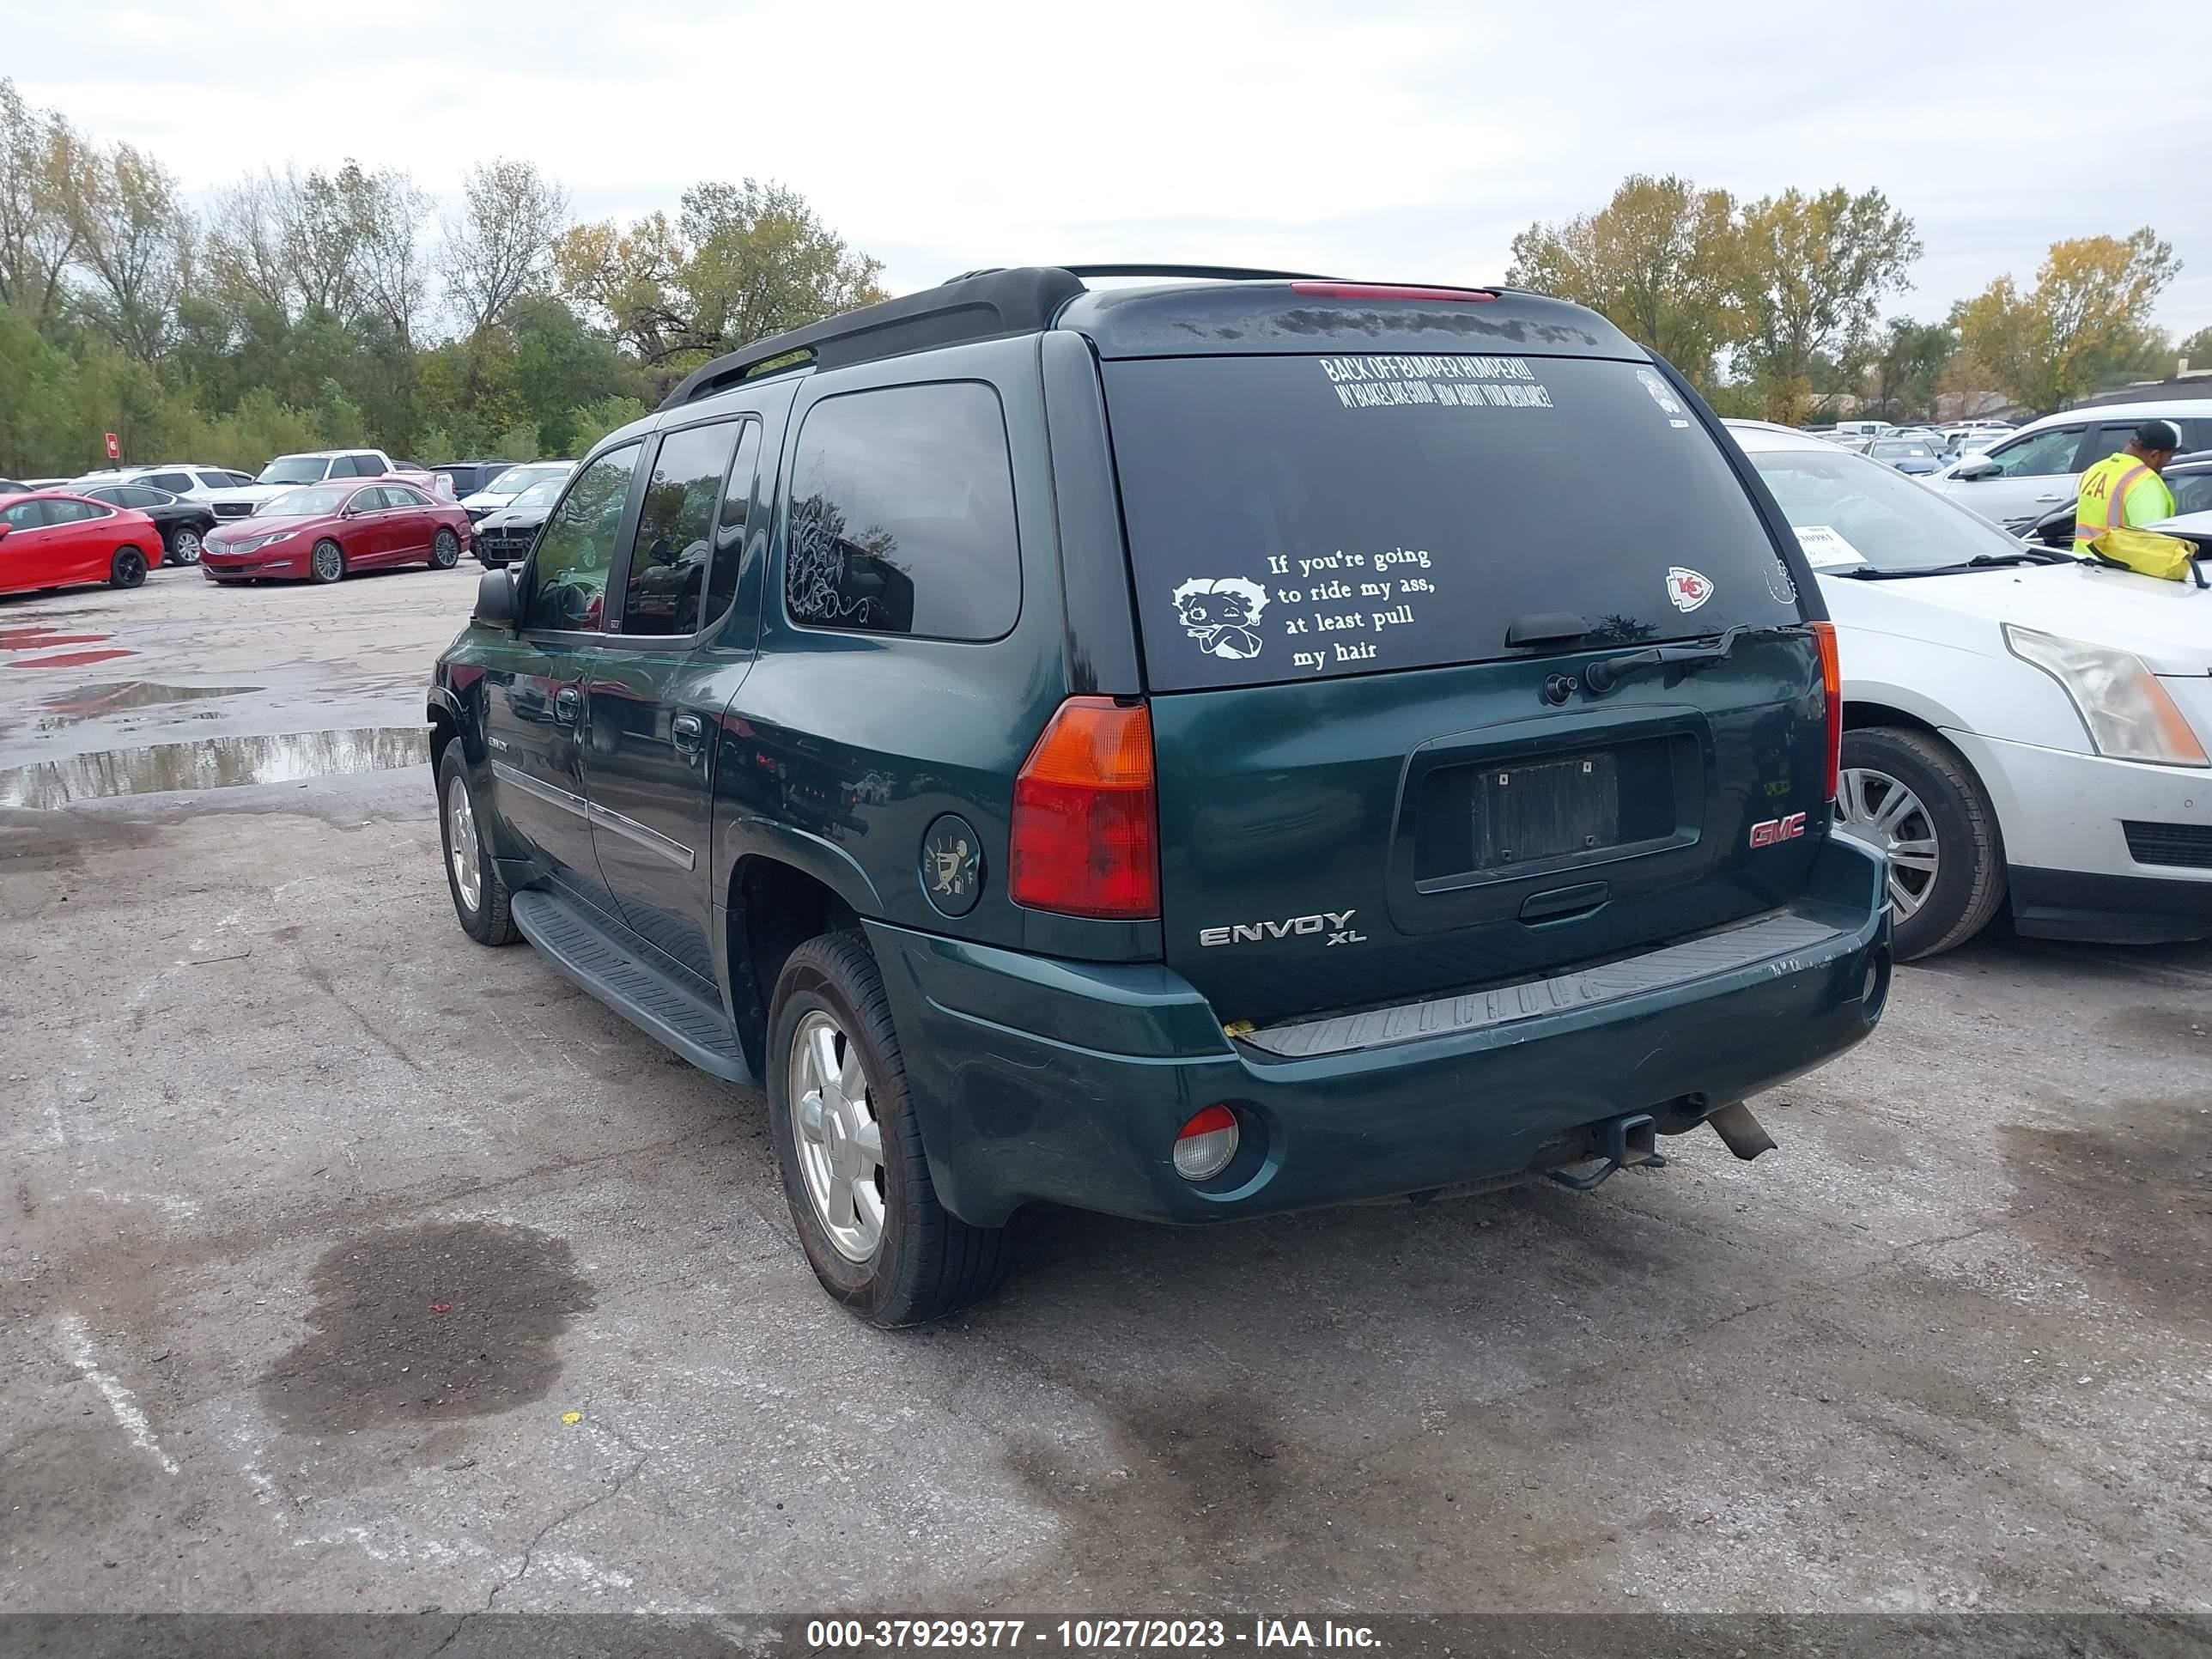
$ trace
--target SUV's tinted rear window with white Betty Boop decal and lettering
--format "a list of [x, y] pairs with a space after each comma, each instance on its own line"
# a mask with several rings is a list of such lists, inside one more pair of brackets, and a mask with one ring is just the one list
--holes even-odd
[[1146, 675], [1256, 686], [1801, 619], [1743, 484], [1637, 363], [1106, 363]]

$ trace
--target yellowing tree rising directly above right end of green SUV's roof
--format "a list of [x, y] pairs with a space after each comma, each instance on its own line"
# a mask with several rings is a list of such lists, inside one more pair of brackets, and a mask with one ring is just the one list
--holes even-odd
[[1506, 281], [1604, 312], [1699, 385], [1734, 338], [1728, 261], [1734, 201], [1668, 175], [1632, 173], [1595, 215], [1533, 223]]

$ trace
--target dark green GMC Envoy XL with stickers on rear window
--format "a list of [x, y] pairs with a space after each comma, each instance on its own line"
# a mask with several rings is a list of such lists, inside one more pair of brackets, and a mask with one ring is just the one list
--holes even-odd
[[1770, 1148], [1745, 1095], [1889, 989], [1840, 726], [1787, 522], [1610, 323], [1164, 265], [714, 358], [429, 692], [462, 929], [759, 1082], [880, 1325], [991, 1290], [1035, 1201]]

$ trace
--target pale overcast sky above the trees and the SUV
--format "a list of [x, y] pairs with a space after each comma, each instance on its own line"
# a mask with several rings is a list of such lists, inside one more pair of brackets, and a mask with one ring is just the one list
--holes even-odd
[[[894, 290], [1188, 259], [1493, 281], [1621, 175], [1880, 188], [1940, 316], [2057, 237], [2154, 226], [2212, 323], [2212, 7], [1471, 0], [4, 0], [11, 73], [195, 192], [263, 164], [538, 161], [580, 217], [779, 179]], [[2128, 44], [2121, 44], [2128, 42]], [[2170, 66], [2172, 84], [2124, 86]], [[2110, 88], [2110, 95], [2099, 95]], [[2166, 157], [2166, 159], [2161, 159]]]

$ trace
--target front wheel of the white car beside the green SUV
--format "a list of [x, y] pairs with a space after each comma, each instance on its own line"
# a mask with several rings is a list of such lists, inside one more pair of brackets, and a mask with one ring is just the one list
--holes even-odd
[[1958, 949], [2004, 902], [2004, 836], [1966, 757], [1933, 732], [1843, 734], [1836, 827], [1889, 854], [1900, 962]]

